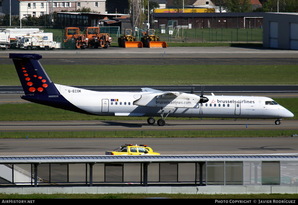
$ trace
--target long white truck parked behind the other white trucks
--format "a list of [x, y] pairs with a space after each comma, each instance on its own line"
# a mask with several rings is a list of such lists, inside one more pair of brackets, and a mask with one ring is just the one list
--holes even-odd
[[43, 33], [44, 30], [39, 29], [0, 29], [1, 32], [6, 32], [10, 35], [10, 48], [18, 48], [18, 37], [26, 36], [30, 34], [40, 34]]

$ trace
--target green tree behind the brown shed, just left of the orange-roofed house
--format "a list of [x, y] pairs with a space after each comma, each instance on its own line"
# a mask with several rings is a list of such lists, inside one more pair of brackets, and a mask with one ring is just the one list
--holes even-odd
[[251, 12], [250, 0], [226, 0], [225, 9], [229, 12]]

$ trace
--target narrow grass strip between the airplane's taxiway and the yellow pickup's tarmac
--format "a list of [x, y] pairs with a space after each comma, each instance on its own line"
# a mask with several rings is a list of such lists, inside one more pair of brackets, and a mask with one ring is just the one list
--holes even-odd
[[288, 137], [297, 133], [297, 130], [174, 130], [174, 131], [48, 131], [48, 132], [3, 132], [1, 139], [28, 138], [217, 138], [217, 137]]

